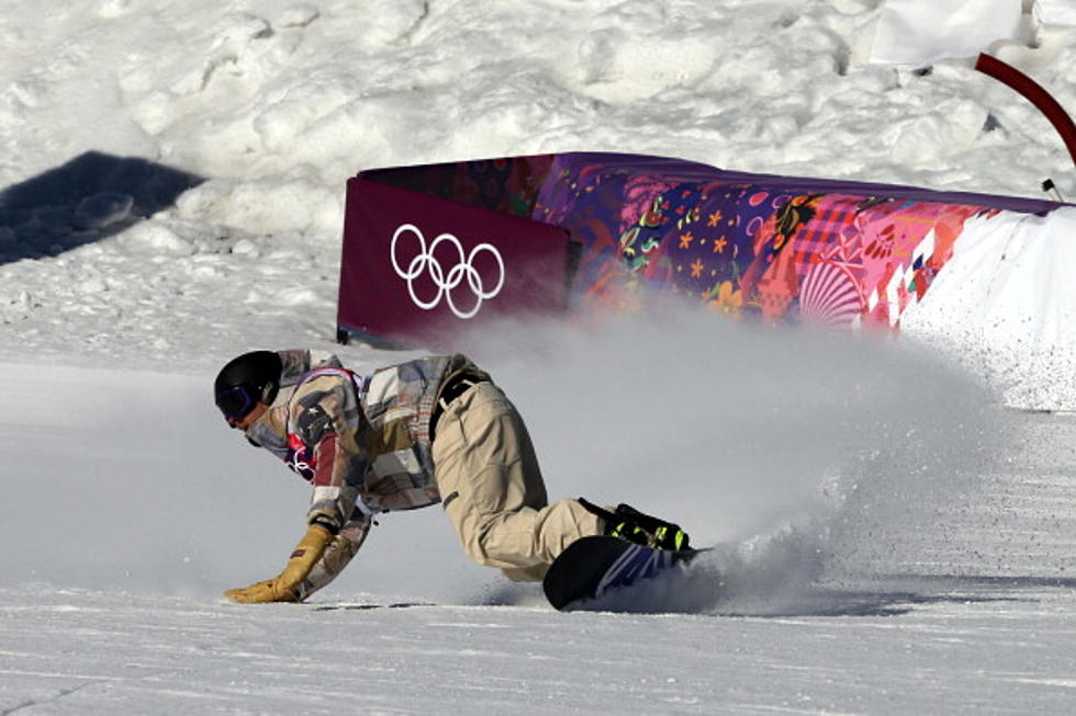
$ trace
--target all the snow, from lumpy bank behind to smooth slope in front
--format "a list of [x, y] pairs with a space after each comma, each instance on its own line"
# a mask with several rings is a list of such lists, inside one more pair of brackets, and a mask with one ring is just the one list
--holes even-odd
[[[437, 509], [306, 605], [220, 596], [280, 568], [306, 488], [209, 384], [334, 348], [347, 177], [629, 150], [1076, 196], [1011, 90], [866, 65], [874, 0], [48, 4], [0, 2], [0, 714], [1072, 711], [1076, 420], [911, 340], [686, 309], [463, 348], [552, 496], [719, 545], [688, 614], [552, 612]], [[1076, 30], [1030, 18], [995, 49], [1073, 110]]]

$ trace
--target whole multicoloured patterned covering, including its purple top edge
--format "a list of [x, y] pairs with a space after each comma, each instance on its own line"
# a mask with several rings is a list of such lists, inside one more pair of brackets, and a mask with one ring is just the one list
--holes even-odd
[[[567, 229], [582, 246], [573, 306], [630, 307], [654, 292], [672, 293], [733, 316], [833, 327], [898, 327], [969, 218], [1062, 206], [616, 154], [511, 157], [361, 177], [491, 216], [528, 216]], [[345, 299], [341, 293], [344, 312]]]

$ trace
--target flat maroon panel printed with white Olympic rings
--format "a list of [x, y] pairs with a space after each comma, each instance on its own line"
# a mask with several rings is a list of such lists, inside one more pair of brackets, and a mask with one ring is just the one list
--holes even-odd
[[568, 232], [372, 181], [348, 181], [337, 325], [405, 343], [568, 305]]

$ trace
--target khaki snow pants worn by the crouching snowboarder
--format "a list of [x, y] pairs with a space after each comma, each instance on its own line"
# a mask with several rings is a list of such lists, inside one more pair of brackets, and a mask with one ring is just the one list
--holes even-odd
[[441, 505], [463, 550], [513, 581], [540, 581], [568, 545], [602, 532], [579, 501], [548, 504], [523, 418], [492, 383], [448, 404], [433, 456]]

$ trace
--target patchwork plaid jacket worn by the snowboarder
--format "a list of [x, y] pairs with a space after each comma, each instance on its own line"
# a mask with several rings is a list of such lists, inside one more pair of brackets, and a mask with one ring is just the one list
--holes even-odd
[[487, 377], [464, 355], [435, 355], [360, 376], [335, 355], [280, 351], [281, 390], [247, 430], [314, 488], [307, 522], [339, 530], [359, 515], [440, 501], [429, 419], [441, 386]]

